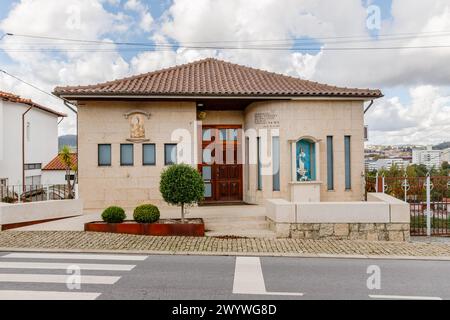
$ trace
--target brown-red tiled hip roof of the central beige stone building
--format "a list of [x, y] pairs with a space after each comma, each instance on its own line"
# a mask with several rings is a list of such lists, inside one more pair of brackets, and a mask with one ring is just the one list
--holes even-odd
[[59, 96], [149, 95], [379, 98], [380, 90], [335, 87], [213, 58], [88, 86], [56, 87]]

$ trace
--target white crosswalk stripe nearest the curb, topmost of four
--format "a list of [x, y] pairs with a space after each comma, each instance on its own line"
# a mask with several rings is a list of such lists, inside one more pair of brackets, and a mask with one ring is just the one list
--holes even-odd
[[26, 258], [26, 259], [76, 259], [76, 260], [128, 260], [144, 261], [148, 256], [121, 255], [121, 254], [71, 254], [71, 253], [9, 253], [2, 258]]

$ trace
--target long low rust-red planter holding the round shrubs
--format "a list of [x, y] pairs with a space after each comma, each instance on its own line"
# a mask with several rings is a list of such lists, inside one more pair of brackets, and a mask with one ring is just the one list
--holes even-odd
[[[179, 221], [171, 219], [171, 221]], [[167, 223], [159, 220], [155, 223], [137, 223], [135, 221], [124, 221], [122, 223], [106, 223], [94, 221], [84, 224], [84, 231], [126, 233], [147, 236], [190, 236], [203, 237], [205, 235], [205, 224], [203, 219], [187, 219], [190, 223]], [[196, 222], [192, 222], [196, 220]], [[198, 222], [197, 222], [198, 221]]]

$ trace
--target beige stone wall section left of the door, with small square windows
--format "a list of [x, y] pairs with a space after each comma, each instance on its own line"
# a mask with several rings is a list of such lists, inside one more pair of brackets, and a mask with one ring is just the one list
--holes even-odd
[[[155, 144], [156, 164], [142, 164], [142, 143], [130, 142], [127, 112], [140, 110], [150, 114], [145, 135]], [[164, 165], [164, 144], [175, 130], [194, 136], [197, 110], [194, 102], [118, 102], [84, 101], [78, 106], [78, 185], [85, 209], [125, 208], [150, 202], [162, 205], [159, 179]], [[134, 165], [120, 165], [120, 144], [133, 143]], [[98, 144], [111, 144], [111, 166], [98, 165]]]

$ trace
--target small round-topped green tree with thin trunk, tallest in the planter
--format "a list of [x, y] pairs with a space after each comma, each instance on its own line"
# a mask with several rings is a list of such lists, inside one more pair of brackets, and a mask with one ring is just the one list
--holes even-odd
[[186, 164], [171, 165], [161, 173], [159, 184], [164, 201], [181, 206], [181, 222], [185, 219], [185, 206], [203, 200], [205, 185], [200, 173]]

